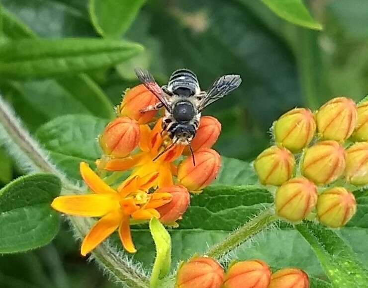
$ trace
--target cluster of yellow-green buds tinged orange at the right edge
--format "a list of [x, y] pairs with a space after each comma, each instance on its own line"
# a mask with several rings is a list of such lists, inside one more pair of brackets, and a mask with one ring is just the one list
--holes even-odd
[[[295, 108], [273, 125], [275, 145], [254, 168], [263, 185], [277, 186], [278, 216], [300, 221], [315, 212], [330, 227], [356, 212], [349, 187], [368, 185], [368, 101], [336, 97], [317, 111]], [[297, 160], [296, 160], [297, 159]]]

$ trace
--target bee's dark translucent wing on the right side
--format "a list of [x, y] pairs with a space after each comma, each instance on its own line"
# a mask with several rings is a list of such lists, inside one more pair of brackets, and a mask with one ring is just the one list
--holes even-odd
[[240, 75], [224, 75], [218, 78], [199, 102], [198, 109], [202, 111], [209, 104], [223, 98], [239, 87], [242, 82]]

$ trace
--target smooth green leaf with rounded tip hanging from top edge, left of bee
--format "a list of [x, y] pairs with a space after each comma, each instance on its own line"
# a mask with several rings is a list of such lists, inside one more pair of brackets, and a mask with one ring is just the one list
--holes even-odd
[[146, 0], [90, 0], [89, 12], [96, 31], [106, 38], [120, 38]]

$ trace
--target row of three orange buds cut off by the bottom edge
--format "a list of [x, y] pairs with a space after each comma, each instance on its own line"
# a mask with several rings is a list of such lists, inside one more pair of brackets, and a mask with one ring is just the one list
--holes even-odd
[[309, 288], [308, 275], [297, 268], [272, 273], [262, 260], [233, 262], [224, 273], [214, 259], [193, 257], [178, 270], [176, 288]]

